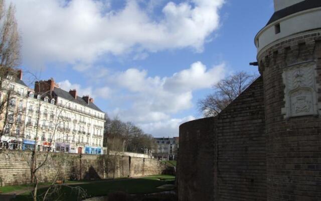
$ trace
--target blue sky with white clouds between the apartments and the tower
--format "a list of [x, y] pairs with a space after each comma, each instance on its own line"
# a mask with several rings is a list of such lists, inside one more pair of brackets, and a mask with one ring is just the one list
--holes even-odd
[[110, 118], [154, 137], [202, 118], [197, 102], [220, 79], [257, 72], [254, 37], [273, 13], [272, 0], [9, 2], [24, 71], [89, 94]]

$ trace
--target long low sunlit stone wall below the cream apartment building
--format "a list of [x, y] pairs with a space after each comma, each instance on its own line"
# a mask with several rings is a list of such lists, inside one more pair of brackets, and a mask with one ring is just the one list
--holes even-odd
[[[39, 165], [45, 157], [45, 152], [38, 152], [36, 163]], [[0, 186], [30, 183], [30, 159], [29, 151], [0, 153]], [[75, 180], [80, 177], [90, 180], [171, 172], [172, 169], [155, 159], [86, 154], [80, 158], [79, 154], [50, 152], [47, 162], [36, 175], [40, 182], [50, 182], [56, 175], [57, 179], [61, 180]]]

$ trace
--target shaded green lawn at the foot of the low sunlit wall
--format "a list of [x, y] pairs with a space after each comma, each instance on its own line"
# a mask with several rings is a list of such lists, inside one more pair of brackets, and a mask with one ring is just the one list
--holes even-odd
[[[114, 191], [124, 191], [127, 193], [151, 193], [151, 192], [160, 192], [164, 190], [172, 190], [157, 188], [158, 186], [165, 184], [174, 184], [175, 176], [170, 175], [154, 175], [154, 176], [146, 176], [141, 178], [132, 178], [132, 179], [115, 179], [115, 180], [99, 180], [99, 181], [91, 181], [83, 184], [69, 184], [72, 187], [82, 187], [86, 190], [87, 197], [93, 196], [102, 196], [107, 195], [109, 192]], [[39, 189], [38, 194], [42, 194], [46, 191], [47, 188]], [[61, 185], [61, 189], [59, 191], [59, 195], [61, 198], [59, 200], [77, 200], [78, 194], [75, 190], [72, 190], [70, 187]], [[55, 197], [57, 195], [54, 195]], [[24, 193], [21, 195], [17, 195], [16, 201], [22, 200], [31, 200], [30, 192]]]

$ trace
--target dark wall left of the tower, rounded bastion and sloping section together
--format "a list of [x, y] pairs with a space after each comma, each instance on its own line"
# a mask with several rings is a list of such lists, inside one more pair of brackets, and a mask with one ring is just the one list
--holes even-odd
[[180, 126], [180, 201], [266, 200], [262, 78], [215, 118]]

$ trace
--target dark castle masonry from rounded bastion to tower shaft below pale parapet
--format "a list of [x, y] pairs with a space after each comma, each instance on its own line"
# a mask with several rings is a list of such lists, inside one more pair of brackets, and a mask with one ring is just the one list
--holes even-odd
[[321, 32], [258, 63], [261, 77], [217, 117], [181, 125], [180, 201], [321, 200]]

